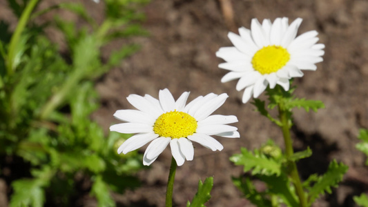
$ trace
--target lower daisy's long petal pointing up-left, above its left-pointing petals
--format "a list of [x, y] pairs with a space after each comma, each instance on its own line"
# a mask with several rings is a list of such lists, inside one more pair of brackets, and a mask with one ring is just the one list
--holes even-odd
[[129, 95], [126, 99], [129, 101], [130, 104], [137, 108], [137, 110], [142, 110], [142, 112], [146, 112], [153, 118], [157, 118], [159, 117], [159, 115], [162, 114], [150, 101], [148, 101], [144, 97], [133, 94]]

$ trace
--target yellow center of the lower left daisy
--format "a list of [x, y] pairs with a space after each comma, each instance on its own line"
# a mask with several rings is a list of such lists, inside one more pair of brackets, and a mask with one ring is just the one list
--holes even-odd
[[186, 112], [171, 111], [159, 116], [153, 131], [161, 137], [171, 137], [171, 139], [188, 137], [197, 130], [197, 120]]

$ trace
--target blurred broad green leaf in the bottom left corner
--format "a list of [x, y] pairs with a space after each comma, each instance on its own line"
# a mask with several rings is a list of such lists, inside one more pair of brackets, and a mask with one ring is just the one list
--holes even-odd
[[38, 179], [19, 179], [12, 182], [14, 193], [10, 200], [10, 207], [42, 207], [45, 202], [41, 182]]

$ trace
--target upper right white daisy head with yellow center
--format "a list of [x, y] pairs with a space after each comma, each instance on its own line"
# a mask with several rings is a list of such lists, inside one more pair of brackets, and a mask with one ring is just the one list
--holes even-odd
[[253, 95], [257, 98], [269, 85], [276, 84], [289, 90], [289, 79], [302, 77], [301, 70], [316, 70], [316, 63], [322, 61], [325, 45], [317, 43], [315, 30], [296, 37], [302, 19], [290, 26], [286, 17], [277, 18], [273, 23], [264, 19], [262, 25], [252, 19], [251, 30], [239, 28], [239, 34], [229, 32], [228, 37], [235, 47], [220, 48], [216, 52], [227, 63], [219, 68], [230, 70], [222, 77], [222, 83], [239, 79], [236, 90], [244, 90], [242, 102]]

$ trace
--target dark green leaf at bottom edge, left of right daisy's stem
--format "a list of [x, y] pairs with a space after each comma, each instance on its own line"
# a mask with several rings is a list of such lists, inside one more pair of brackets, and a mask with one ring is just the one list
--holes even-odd
[[246, 199], [255, 204], [255, 206], [263, 206], [263, 207], [271, 207], [271, 201], [266, 198], [266, 193], [259, 193], [256, 189], [251, 180], [246, 177], [233, 177], [233, 184], [237, 186]]

